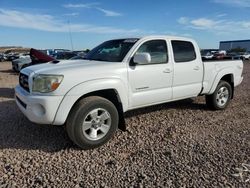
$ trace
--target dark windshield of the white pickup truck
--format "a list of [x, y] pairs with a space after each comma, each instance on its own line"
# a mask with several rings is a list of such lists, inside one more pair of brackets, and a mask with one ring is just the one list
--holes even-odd
[[84, 59], [121, 62], [139, 39], [118, 39], [106, 41], [91, 50]]

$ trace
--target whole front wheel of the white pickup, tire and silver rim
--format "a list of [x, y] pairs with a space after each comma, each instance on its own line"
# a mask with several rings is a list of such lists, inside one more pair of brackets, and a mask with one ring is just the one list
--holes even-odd
[[111, 139], [118, 128], [119, 115], [109, 100], [91, 96], [77, 102], [66, 122], [70, 139], [82, 149], [93, 149]]

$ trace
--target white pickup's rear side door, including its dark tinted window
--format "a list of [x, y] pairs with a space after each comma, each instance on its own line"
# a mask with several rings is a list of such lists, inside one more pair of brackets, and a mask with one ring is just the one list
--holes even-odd
[[173, 99], [197, 96], [202, 88], [203, 65], [198, 47], [190, 41], [172, 40], [174, 56]]

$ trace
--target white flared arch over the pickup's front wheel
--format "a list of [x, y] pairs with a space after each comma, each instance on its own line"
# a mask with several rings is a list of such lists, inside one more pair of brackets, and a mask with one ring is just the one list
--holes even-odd
[[[123, 112], [126, 111], [128, 107], [126, 91], [125, 84], [119, 79], [92, 80], [81, 83], [71, 88], [71, 90], [64, 96], [58, 107], [53, 124], [64, 124], [70, 111], [79, 100], [89, 96], [100, 96], [111, 101], [117, 107], [120, 119], [119, 124], [122, 126], [125, 124]], [[119, 128], [125, 129], [123, 127]]]

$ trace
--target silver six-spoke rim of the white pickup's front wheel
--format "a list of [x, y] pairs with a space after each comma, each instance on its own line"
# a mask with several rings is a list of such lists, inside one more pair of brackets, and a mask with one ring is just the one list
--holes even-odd
[[111, 126], [111, 116], [103, 108], [96, 108], [90, 111], [83, 120], [82, 131], [89, 140], [99, 140], [109, 131]]

